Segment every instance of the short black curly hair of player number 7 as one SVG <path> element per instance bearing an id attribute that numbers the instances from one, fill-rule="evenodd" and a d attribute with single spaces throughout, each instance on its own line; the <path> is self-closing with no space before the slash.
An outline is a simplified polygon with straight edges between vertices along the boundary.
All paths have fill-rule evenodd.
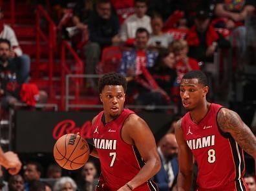
<path id="1" fill-rule="evenodd" d="M 105 74 L 99 79 L 98 88 L 100 93 L 106 85 L 123 86 L 124 92 L 127 90 L 125 77 L 116 72 Z"/>

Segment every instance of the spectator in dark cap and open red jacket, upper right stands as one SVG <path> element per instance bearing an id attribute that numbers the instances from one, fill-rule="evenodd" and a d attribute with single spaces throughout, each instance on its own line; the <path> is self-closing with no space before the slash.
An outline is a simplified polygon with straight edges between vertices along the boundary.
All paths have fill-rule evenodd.
<path id="1" fill-rule="evenodd" d="M 229 47 L 229 42 L 215 31 L 210 23 L 208 11 L 198 10 L 195 25 L 187 33 L 186 41 L 189 45 L 189 57 L 198 61 L 213 61 L 213 54 L 217 47 Z"/>

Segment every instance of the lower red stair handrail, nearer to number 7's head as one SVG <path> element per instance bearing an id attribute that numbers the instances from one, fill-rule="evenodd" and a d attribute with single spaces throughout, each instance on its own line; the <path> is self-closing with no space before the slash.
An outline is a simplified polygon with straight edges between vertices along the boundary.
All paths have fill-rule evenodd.
<path id="1" fill-rule="evenodd" d="M 62 110 L 65 108 L 65 81 L 66 81 L 65 80 L 65 75 L 72 74 L 72 71 L 67 66 L 66 50 L 69 51 L 69 53 L 72 55 L 72 57 L 76 61 L 76 63 L 75 63 L 75 67 L 76 67 L 75 75 L 82 75 L 83 71 L 84 71 L 83 70 L 83 61 L 80 59 L 78 54 L 76 54 L 76 52 L 74 51 L 72 46 L 70 46 L 67 41 L 62 41 L 62 44 L 61 44 L 61 66 L 62 66 L 62 70 L 61 70 L 61 109 Z M 75 100 L 77 102 L 78 102 L 78 99 L 79 99 L 81 83 L 82 83 L 81 79 L 78 79 L 78 80 L 75 79 L 74 80 L 74 85 L 76 87 L 75 88 L 75 95 L 76 95 Z M 69 83 L 67 83 L 67 81 L 66 81 L 66 85 L 69 85 Z M 66 91 L 67 91 L 67 89 L 68 88 L 66 86 Z M 67 94 L 66 94 L 66 96 L 67 96 Z"/>

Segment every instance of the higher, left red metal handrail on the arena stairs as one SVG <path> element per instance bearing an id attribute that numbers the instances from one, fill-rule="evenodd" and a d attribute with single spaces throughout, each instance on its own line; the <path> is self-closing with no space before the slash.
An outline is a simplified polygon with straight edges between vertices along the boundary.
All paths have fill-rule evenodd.
<path id="1" fill-rule="evenodd" d="M 48 22 L 48 35 L 41 30 L 41 16 Z M 36 63 L 39 65 L 41 59 L 41 39 L 48 45 L 48 77 L 49 77 L 49 94 L 52 97 L 53 90 L 53 63 L 54 63 L 54 49 L 56 48 L 56 25 L 50 18 L 50 15 L 44 10 L 43 6 L 38 5 L 36 9 Z M 36 76 L 39 76 L 39 67 L 36 68 Z"/>

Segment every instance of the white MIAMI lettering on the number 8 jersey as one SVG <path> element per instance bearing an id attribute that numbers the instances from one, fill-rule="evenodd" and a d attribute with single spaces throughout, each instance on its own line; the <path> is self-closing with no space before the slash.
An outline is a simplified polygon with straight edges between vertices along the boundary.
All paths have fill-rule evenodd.
<path id="1" fill-rule="evenodd" d="M 215 136 L 200 137 L 198 139 L 187 140 L 187 145 L 191 150 L 215 145 Z"/>

